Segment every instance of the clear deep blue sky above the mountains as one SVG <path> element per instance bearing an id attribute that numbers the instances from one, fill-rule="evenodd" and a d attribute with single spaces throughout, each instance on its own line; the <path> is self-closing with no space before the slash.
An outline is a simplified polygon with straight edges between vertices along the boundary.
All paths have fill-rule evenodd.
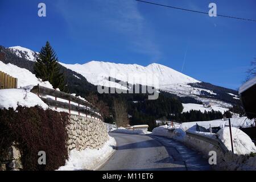
<path id="1" fill-rule="evenodd" d="M 256 1 L 147 0 L 256 19 Z M 46 3 L 39 18 L 38 3 Z M 0 45 L 40 51 L 47 40 L 63 63 L 159 63 L 237 89 L 256 57 L 256 22 L 189 13 L 134 0 L 0 1 Z M 184 64 L 184 65 L 183 65 Z"/>

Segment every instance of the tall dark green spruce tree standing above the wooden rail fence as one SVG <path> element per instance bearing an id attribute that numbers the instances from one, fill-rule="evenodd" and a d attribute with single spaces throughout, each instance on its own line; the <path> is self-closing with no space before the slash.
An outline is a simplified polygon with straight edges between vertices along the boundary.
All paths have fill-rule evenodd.
<path id="1" fill-rule="evenodd" d="M 61 91 L 65 91 L 64 74 L 60 72 L 56 53 L 48 41 L 46 46 L 42 47 L 36 59 L 34 70 L 36 77 L 41 78 L 43 81 L 49 81 L 55 89 L 59 88 Z"/>

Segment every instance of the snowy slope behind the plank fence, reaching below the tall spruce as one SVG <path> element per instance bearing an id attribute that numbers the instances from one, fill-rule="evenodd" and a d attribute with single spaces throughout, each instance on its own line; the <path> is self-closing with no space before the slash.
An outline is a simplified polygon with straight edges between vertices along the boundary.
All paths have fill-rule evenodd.
<path id="1" fill-rule="evenodd" d="M 5 64 L 0 61 L 0 68 L 2 72 L 7 73 L 8 75 L 18 78 L 18 88 L 27 86 L 27 85 L 38 85 L 45 86 L 47 88 L 52 88 L 52 85 L 48 81 L 42 81 L 39 78 L 24 68 L 19 68 L 13 64 Z"/>

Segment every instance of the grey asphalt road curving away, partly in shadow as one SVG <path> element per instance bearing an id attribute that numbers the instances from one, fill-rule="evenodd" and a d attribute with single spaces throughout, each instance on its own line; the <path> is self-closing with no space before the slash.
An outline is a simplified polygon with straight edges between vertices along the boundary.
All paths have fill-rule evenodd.
<path id="1" fill-rule="evenodd" d="M 100 170 L 210 170 L 208 159 L 182 143 L 154 135 L 109 133 L 117 151 Z"/>

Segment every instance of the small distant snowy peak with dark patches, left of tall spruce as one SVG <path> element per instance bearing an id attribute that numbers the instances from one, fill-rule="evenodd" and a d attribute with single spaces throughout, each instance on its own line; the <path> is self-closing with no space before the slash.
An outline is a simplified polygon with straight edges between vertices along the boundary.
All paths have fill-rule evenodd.
<path id="1" fill-rule="evenodd" d="M 9 49 L 11 50 L 11 52 L 15 53 L 16 56 L 22 57 L 29 61 L 35 61 L 36 57 L 38 56 L 38 52 L 34 52 L 25 47 L 14 46 L 14 47 L 9 47 Z"/>

